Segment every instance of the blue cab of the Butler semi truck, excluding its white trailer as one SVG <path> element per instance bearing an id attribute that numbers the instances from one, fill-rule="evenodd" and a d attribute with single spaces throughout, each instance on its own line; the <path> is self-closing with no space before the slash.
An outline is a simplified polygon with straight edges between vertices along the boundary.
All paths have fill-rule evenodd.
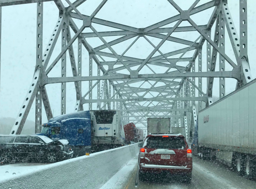
<path id="1" fill-rule="evenodd" d="M 91 152 L 92 126 L 90 111 L 81 111 L 51 118 L 42 124 L 42 131 L 37 135 L 44 135 L 52 140 L 67 139 L 75 156 Z"/>

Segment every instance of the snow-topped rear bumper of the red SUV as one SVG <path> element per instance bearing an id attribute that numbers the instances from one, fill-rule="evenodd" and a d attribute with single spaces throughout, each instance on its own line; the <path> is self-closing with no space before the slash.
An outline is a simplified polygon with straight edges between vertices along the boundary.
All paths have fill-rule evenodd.
<path id="1" fill-rule="evenodd" d="M 170 172 L 176 173 L 191 173 L 192 167 L 179 167 L 179 166 L 166 166 L 166 165 L 152 165 L 152 164 L 141 164 L 139 165 L 140 172 Z"/>

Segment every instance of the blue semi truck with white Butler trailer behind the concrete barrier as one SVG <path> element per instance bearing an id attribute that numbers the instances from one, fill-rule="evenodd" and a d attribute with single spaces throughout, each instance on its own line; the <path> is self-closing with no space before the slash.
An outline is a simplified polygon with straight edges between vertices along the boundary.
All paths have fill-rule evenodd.
<path id="1" fill-rule="evenodd" d="M 44 135 L 69 141 L 74 156 L 124 145 L 125 133 L 119 110 L 88 110 L 64 114 L 42 124 Z"/>

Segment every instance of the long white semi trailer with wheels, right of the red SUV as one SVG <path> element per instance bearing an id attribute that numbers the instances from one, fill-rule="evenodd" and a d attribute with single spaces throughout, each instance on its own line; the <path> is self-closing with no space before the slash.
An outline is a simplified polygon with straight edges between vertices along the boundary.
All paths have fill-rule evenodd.
<path id="1" fill-rule="evenodd" d="M 193 154 L 216 158 L 239 175 L 256 175 L 256 79 L 201 110 Z M 198 127 L 198 129 L 197 129 Z"/>

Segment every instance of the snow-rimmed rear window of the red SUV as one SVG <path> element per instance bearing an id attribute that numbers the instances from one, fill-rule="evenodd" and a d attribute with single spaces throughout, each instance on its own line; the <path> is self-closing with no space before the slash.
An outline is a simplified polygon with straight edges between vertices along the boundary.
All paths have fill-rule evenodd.
<path id="1" fill-rule="evenodd" d="M 146 148 L 178 149 L 185 148 L 186 144 L 181 137 L 149 137 Z"/>

